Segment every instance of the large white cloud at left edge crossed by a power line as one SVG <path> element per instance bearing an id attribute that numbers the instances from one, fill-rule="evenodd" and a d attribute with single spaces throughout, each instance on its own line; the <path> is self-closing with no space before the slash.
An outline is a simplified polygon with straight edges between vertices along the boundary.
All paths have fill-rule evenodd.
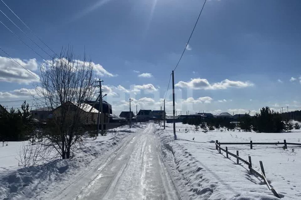
<path id="1" fill-rule="evenodd" d="M 33 72 L 38 68 L 38 63 L 35 58 L 29 60 L 21 60 L 19 58 L 14 59 L 35 76 L 39 77 Z M 24 68 L 18 65 L 13 59 L 0 56 L 0 81 L 20 84 L 29 84 L 38 81 L 37 78 Z"/>

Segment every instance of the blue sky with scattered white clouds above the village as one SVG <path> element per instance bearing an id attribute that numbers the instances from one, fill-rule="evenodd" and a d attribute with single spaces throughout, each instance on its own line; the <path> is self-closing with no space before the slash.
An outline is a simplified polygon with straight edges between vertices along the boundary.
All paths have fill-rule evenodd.
<path id="1" fill-rule="evenodd" d="M 116 114 L 128 108 L 129 97 L 138 109 L 160 109 L 171 70 L 203 5 L 199 0 L 4 2 L 55 52 L 68 45 L 78 55 L 85 49 Z M 178 112 L 254 113 L 263 106 L 300 110 L 300 8 L 298 0 L 208 0 L 175 71 Z M 0 9 L 26 30 L 2 2 Z M 2 14 L 0 21 L 49 58 Z M 3 50 L 39 75 L 42 58 L 2 24 L 0 38 Z M 0 104 L 31 99 L 34 78 L 3 57 Z M 171 91 L 166 99 L 168 113 L 170 98 Z"/>

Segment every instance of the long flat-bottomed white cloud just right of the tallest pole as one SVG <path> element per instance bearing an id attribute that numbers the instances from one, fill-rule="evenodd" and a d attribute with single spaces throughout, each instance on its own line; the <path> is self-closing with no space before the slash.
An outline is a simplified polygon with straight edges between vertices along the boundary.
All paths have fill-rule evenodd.
<path id="1" fill-rule="evenodd" d="M 219 83 L 210 84 L 207 79 L 204 78 L 194 78 L 189 82 L 179 81 L 175 86 L 180 88 L 190 88 L 190 89 L 204 89 L 204 90 L 216 90 L 216 89 L 227 89 L 227 88 L 246 88 L 254 86 L 253 83 L 248 81 L 231 81 L 225 79 Z"/>

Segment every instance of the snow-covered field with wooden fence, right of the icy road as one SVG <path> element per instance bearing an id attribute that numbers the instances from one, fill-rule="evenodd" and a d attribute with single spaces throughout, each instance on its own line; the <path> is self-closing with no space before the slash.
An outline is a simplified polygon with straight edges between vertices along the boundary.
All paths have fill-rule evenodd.
<path id="1" fill-rule="evenodd" d="M 157 134 L 171 150 L 177 164 L 178 179 L 186 181 L 182 187 L 190 192 L 192 199 L 277 199 L 267 186 L 248 173 L 248 166 L 236 165 L 236 159 L 226 159 L 225 153 L 215 150 L 214 141 L 219 142 L 287 142 L 300 143 L 301 132 L 253 133 L 231 131 L 195 132 L 194 126 L 176 123 L 178 140 L 173 140 L 172 124 L 166 130 L 158 128 Z M 185 128 L 189 130 L 185 133 Z M 194 138 L 194 141 L 193 141 Z M 190 140 L 190 141 L 187 141 Z M 226 145 L 224 145 L 225 147 Z M 301 146 L 288 145 L 227 145 L 230 152 L 239 150 L 240 157 L 252 158 L 253 168 L 260 171 L 259 160 L 263 162 L 268 181 L 283 199 L 301 199 Z M 223 145 L 222 145 L 223 147 Z M 294 149 L 294 153 L 292 152 Z M 181 182 L 178 182 L 181 184 Z"/>

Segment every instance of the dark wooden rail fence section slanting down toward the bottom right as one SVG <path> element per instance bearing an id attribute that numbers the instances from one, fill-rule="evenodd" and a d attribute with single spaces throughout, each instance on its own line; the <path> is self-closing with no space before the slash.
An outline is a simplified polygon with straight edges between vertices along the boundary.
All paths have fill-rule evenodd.
<path id="1" fill-rule="evenodd" d="M 236 151 L 236 155 L 234 153 L 231 153 L 228 151 L 228 147 L 226 147 L 225 149 L 224 148 L 221 148 L 220 145 L 222 143 L 218 143 L 218 141 L 216 140 L 215 142 L 215 147 L 216 147 L 216 150 L 219 151 L 220 154 L 221 151 L 225 152 L 226 153 L 226 158 L 229 158 L 229 155 L 230 156 L 233 156 L 234 158 L 236 158 L 236 163 L 239 164 L 239 161 L 242 161 L 243 163 L 245 163 L 246 165 L 248 165 L 248 168 L 249 168 L 249 171 L 250 171 L 250 174 L 256 174 L 258 177 L 260 177 L 264 183 L 266 183 L 267 187 L 273 192 L 273 194 L 280 198 L 280 196 L 278 195 L 278 193 L 275 191 L 275 189 L 273 187 L 271 187 L 271 185 L 267 182 L 267 178 L 266 178 L 266 174 L 265 174 L 265 171 L 264 171 L 264 168 L 263 168 L 263 164 L 262 164 L 262 161 L 259 161 L 259 164 L 260 164 L 260 168 L 261 168 L 261 173 L 259 173 L 258 171 L 256 171 L 254 168 L 252 168 L 252 160 L 251 160 L 251 156 L 248 156 L 248 161 L 244 160 L 243 158 L 239 157 L 239 152 L 238 150 Z M 232 144 L 232 143 L 230 143 Z M 250 144 L 250 143 L 247 143 L 247 144 Z"/>

